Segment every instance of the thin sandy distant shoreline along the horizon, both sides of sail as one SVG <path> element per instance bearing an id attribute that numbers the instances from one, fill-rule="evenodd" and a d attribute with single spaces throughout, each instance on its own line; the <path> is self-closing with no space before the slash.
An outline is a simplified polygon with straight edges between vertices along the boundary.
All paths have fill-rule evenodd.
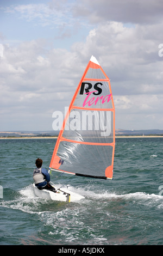
<path id="1" fill-rule="evenodd" d="M 0 137 L 0 139 L 57 139 L 58 136 L 52 136 L 52 137 Z M 137 136 L 115 136 L 115 138 L 163 138 L 163 136 L 160 135 L 137 135 Z"/>

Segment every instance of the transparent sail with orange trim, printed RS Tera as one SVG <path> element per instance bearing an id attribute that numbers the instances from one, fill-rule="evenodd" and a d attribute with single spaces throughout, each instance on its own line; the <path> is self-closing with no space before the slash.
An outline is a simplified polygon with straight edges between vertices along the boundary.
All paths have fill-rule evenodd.
<path id="1" fill-rule="evenodd" d="M 112 179 L 115 108 L 108 76 L 91 57 L 60 130 L 49 169 Z"/>

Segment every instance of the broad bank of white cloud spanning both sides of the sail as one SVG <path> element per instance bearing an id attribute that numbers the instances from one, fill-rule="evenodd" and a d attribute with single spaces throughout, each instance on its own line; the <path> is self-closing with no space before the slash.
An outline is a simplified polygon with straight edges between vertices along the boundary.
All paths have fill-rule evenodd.
<path id="1" fill-rule="evenodd" d="M 159 94 L 163 74 L 159 40 L 149 38 L 151 31 L 151 26 L 146 26 L 143 34 L 140 25 L 127 28 L 120 22 L 107 22 L 90 31 L 85 42 L 73 44 L 71 52 L 55 48 L 45 51 L 45 42 L 38 40 L 23 42 L 17 48 L 3 46 L 3 103 L 12 110 L 17 106 L 26 107 L 28 112 L 33 109 L 37 118 L 48 113 L 50 119 L 49 109 L 52 115 L 69 105 L 91 54 L 96 53 L 111 80 L 117 115 L 147 116 L 148 111 L 154 115 L 162 109 Z M 119 122 L 117 125 L 122 127 Z M 137 129 L 138 126 L 140 123 Z"/>

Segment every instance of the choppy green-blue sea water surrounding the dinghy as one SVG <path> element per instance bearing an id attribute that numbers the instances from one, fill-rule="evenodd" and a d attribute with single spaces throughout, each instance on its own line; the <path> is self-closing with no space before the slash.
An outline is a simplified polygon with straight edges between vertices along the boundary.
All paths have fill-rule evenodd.
<path id="1" fill-rule="evenodd" d="M 33 169 L 49 167 L 54 138 L 0 139 L 1 245 L 162 245 L 163 138 L 116 138 L 114 179 L 53 172 L 77 203 L 37 198 Z"/>

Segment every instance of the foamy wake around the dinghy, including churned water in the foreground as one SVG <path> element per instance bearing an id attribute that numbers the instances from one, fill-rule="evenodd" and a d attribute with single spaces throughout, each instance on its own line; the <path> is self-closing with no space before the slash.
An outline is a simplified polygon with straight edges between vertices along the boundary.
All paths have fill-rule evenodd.
<path id="1" fill-rule="evenodd" d="M 84 240 L 85 244 L 97 245 L 107 243 L 104 234 L 106 230 L 112 232 L 114 222 L 121 223 L 118 225 L 122 227 L 125 225 L 126 229 L 130 229 L 131 223 L 135 220 L 131 216 L 127 218 L 125 215 L 122 216 L 124 204 L 131 203 L 135 207 L 146 205 L 148 209 L 151 207 L 160 209 L 163 205 L 162 196 L 156 194 L 144 192 L 117 194 L 99 188 L 95 190 L 95 187 L 95 185 L 82 188 L 72 186 L 71 191 L 82 194 L 85 199 L 78 203 L 66 203 L 36 197 L 33 186 L 30 184 L 18 191 L 15 199 L 2 202 L 1 205 L 36 215 L 45 229 L 44 235 L 40 233 L 41 230 L 38 232 L 46 239 L 49 236 L 48 240 L 52 237 L 56 244 L 61 240 L 64 240 L 65 244 L 73 244 L 77 241 L 78 244 L 82 244 Z M 107 217 L 104 218 L 104 215 Z M 146 225 L 145 221 L 139 222 Z M 104 234 L 101 230 L 105 230 Z M 121 241 L 116 240 L 115 243 L 121 244 Z"/>

